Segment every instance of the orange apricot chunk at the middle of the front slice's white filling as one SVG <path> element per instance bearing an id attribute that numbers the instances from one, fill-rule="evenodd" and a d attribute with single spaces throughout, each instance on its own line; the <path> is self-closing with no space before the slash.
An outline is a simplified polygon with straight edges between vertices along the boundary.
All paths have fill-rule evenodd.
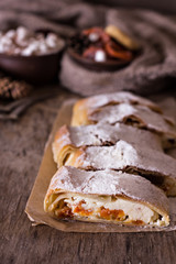
<path id="1" fill-rule="evenodd" d="M 107 220 L 124 220 L 124 211 L 123 210 L 110 210 L 108 208 L 100 208 L 100 217 Z"/>

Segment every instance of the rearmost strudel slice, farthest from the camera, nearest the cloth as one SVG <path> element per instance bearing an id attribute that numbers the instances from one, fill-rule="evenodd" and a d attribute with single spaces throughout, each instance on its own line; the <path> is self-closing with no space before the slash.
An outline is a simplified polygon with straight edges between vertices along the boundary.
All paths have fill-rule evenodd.
<path id="1" fill-rule="evenodd" d="M 161 108 L 139 96 L 131 92 L 119 91 L 113 94 L 99 95 L 78 100 L 74 106 L 72 125 L 82 125 L 91 122 L 89 114 L 107 106 L 116 106 L 120 103 L 140 105 L 152 109 L 155 112 L 162 112 Z"/>

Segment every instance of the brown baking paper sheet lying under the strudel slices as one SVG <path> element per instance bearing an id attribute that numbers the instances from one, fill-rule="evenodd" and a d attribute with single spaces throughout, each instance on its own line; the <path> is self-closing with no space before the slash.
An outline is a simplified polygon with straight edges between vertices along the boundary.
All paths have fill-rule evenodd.
<path id="1" fill-rule="evenodd" d="M 166 228 L 148 228 L 148 227 L 124 227 L 118 224 L 106 224 L 106 223 L 89 223 L 79 221 L 62 221 L 55 220 L 43 209 L 43 201 L 50 185 L 52 176 L 56 172 L 56 164 L 53 161 L 52 154 L 52 142 L 56 130 L 63 124 L 70 123 L 72 109 L 75 100 L 66 101 L 61 108 L 53 130 L 50 134 L 48 141 L 45 145 L 43 161 L 33 186 L 31 196 L 28 200 L 25 212 L 33 222 L 33 224 L 47 224 L 62 231 L 67 232 L 154 232 L 154 231 L 173 231 L 176 230 L 176 198 L 169 198 L 170 207 L 170 224 Z M 170 103 L 172 102 L 172 103 Z M 175 103 L 175 105 L 173 105 Z M 166 105 L 166 106 L 165 106 Z M 167 99 L 166 103 L 162 106 L 172 106 L 173 111 L 176 109 L 176 102 L 173 99 Z M 169 112 L 170 110 L 167 109 Z M 175 113 L 175 112 L 174 112 Z M 169 166 L 169 165 L 168 165 Z"/>

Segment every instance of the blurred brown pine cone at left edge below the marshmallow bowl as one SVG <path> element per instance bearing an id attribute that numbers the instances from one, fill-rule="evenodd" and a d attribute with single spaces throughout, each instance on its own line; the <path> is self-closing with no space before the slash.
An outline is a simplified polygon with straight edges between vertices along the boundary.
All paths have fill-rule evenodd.
<path id="1" fill-rule="evenodd" d="M 23 80 L 13 80 L 10 77 L 0 78 L 0 98 L 20 99 L 30 94 L 32 86 Z"/>

